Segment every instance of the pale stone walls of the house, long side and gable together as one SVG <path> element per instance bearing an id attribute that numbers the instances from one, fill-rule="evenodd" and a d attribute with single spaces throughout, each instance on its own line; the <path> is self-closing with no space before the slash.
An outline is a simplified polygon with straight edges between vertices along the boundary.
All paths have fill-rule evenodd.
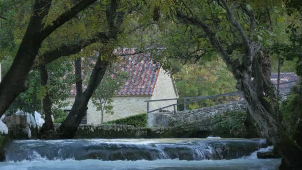
<path id="1" fill-rule="evenodd" d="M 178 98 L 177 90 L 175 90 L 174 85 L 174 80 L 171 78 L 171 76 L 161 68 L 152 96 L 115 96 L 112 103 L 112 105 L 114 106 L 114 114 L 110 115 L 105 113 L 104 122 L 134 116 L 140 113 L 146 113 L 147 103 L 144 102 L 145 100 Z M 68 97 L 67 101 L 71 104 L 63 109 L 70 110 L 74 100 L 75 96 Z M 176 103 L 176 100 L 151 102 L 149 105 L 149 110 L 157 109 L 174 103 Z M 173 110 L 173 107 L 168 109 Z M 96 107 L 90 100 L 87 110 L 87 124 L 97 125 L 100 123 L 101 112 L 96 110 Z"/>

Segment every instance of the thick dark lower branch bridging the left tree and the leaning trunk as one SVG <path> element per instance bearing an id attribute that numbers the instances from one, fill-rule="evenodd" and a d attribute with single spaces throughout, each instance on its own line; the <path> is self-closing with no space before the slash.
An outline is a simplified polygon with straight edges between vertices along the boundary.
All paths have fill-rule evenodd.
<path id="1" fill-rule="evenodd" d="M 45 53 L 41 54 L 42 63 L 48 64 L 62 56 L 69 56 L 72 54 L 79 53 L 83 48 L 87 47 L 90 44 L 95 42 L 108 42 L 109 37 L 104 32 L 98 32 L 92 36 L 90 39 L 83 39 L 77 43 L 65 45 L 62 44 L 58 48 L 46 51 Z"/>

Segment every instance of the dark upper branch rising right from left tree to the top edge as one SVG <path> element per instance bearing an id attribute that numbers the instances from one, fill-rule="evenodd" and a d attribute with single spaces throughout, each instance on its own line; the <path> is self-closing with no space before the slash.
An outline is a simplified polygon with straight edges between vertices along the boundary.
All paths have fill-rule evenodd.
<path id="1" fill-rule="evenodd" d="M 70 10 L 62 13 L 60 16 L 57 17 L 54 21 L 52 21 L 51 24 L 47 25 L 42 31 L 41 31 L 41 37 L 42 39 L 45 39 L 48 35 L 50 35 L 54 30 L 56 30 L 58 27 L 63 25 L 65 22 L 69 21 L 71 18 L 73 18 L 77 13 L 88 7 L 89 5 L 93 4 L 97 0 L 81 0 L 78 2 L 74 7 L 72 7 Z"/>

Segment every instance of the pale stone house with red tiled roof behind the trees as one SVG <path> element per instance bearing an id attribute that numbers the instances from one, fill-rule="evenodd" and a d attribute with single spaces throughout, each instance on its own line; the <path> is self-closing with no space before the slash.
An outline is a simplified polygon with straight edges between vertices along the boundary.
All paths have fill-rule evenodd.
<path id="1" fill-rule="evenodd" d="M 135 49 L 123 49 L 115 51 L 122 59 L 119 64 L 121 71 L 129 74 L 129 79 L 121 87 L 113 98 L 113 115 L 104 113 L 104 122 L 125 118 L 128 116 L 146 113 L 147 104 L 145 100 L 178 98 L 178 93 L 174 78 L 168 74 L 158 62 L 154 62 L 154 56 L 150 53 L 135 54 Z M 134 55 L 125 55 L 134 54 Z M 85 89 L 86 86 L 83 86 Z M 83 89 L 83 90 L 84 90 Z M 71 96 L 67 101 L 70 106 L 63 108 L 68 113 L 75 100 L 76 88 L 71 91 Z M 149 110 L 157 109 L 170 104 L 174 101 L 153 102 L 149 105 Z M 96 107 L 90 100 L 88 103 L 87 115 L 82 120 L 82 124 L 100 124 L 101 112 L 96 111 Z"/>

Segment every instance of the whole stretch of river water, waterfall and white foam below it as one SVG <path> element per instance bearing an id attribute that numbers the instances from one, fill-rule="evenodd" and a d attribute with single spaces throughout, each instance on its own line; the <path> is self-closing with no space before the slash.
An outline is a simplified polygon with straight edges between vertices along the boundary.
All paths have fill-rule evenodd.
<path id="1" fill-rule="evenodd" d="M 0 170 L 277 170 L 263 139 L 15 140 Z"/>

